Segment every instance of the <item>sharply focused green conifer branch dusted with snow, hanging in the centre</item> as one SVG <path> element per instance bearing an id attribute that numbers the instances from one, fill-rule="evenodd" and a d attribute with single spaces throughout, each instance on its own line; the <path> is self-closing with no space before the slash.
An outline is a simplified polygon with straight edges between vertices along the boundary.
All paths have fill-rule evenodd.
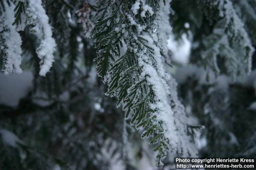
<path id="1" fill-rule="evenodd" d="M 165 3 L 109 1 L 99 10 L 92 32 L 98 49 L 98 74 L 108 84 L 106 94 L 118 97 L 117 106 L 123 102 L 125 117 L 132 113 L 132 125 L 145 128 L 142 138 L 153 136 L 150 143 L 156 144 L 158 164 L 162 164 L 169 146 L 177 147 L 174 113 L 168 100 L 170 75 L 163 68 L 156 45 L 160 37 L 154 30 L 161 26 L 155 23 L 159 23 L 159 6 L 169 5 Z"/>

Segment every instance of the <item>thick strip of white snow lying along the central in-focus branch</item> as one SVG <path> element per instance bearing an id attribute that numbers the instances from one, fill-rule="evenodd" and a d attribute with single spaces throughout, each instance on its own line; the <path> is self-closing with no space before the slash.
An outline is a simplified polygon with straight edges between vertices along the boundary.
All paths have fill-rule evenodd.
<path id="1" fill-rule="evenodd" d="M 170 94 L 169 86 L 166 80 L 170 79 L 170 75 L 166 74 L 164 70 L 164 66 L 161 61 L 160 49 L 154 45 L 153 39 L 148 35 L 142 36 L 144 39 L 148 41 L 147 45 L 154 49 L 154 59 L 156 61 L 156 68 L 152 65 L 152 61 L 147 54 L 149 52 L 144 53 L 143 51 L 138 54 L 139 65 L 142 67 L 141 77 L 144 78 L 147 76 L 148 83 L 152 85 L 152 88 L 155 93 L 155 104 L 151 105 L 152 109 L 156 109 L 156 113 L 154 115 L 157 116 L 158 121 L 162 121 L 164 126 L 164 136 L 170 140 L 170 145 L 175 148 L 177 146 L 177 138 L 176 132 L 174 131 L 174 117 L 173 111 L 168 103 L 168 94 Z M 156 122 L 158 123 L 158 122 Z"/>

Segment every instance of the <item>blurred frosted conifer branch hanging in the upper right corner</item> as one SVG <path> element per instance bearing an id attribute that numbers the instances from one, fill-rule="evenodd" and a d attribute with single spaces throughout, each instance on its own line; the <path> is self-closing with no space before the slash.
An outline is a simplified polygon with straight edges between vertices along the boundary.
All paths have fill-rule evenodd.
<path id="1" fill-rule="evenodd" d="M 214 23 L 212 34 L 203 40 L 205 50 L 202 60 L 206 70 L 218 75 L 227 72 L 233 79 L 251 71 L 254 48 L 230 0 L 198 0 L 200 8 L 210 23 Z M 220 70 L 217 60 L 224 58 L 225 70 Z"/>

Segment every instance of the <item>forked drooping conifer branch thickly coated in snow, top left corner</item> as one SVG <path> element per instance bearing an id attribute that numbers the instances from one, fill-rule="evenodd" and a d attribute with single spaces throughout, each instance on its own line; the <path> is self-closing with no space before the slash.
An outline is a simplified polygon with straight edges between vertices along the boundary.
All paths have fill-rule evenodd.
<path id="1" fill-rule="evenodd" d="M 42 6 L 41 0 L 8 0 L 1 3 L 1 49 L 5 54 L 5 74 L 21 73 L 22 40 L 18 31 L 24 30 L 26 25 L 33 25 L 30 30 L 40 40 L 36 53 L 40 59 L 41 76 L 52 67 L 54 62 L 55 40 L 52 37 L 52 27 Z"/>

